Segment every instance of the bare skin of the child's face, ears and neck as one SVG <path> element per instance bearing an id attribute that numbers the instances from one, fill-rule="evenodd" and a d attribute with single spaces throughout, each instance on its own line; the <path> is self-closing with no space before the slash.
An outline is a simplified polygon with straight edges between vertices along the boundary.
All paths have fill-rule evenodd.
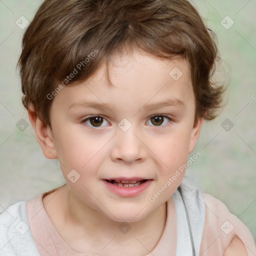
<path id="1" fill-rule="evenodd" d="M 109 67 L 115 87 L 107 85 L 102 65 L 86 81 L 65 86 L 53 97 L 51 128 L 41 122 L 32 104 L 29 106 L 29 119 L 43 154 L 49 159 L 58 157 L 67 183 L 43 197 L 43 204 L 59 235 L 74 250 L 90 255 L 100 252 L 101 256 L 119 255 L 120 251 L 123 256 L 142 256 L 160 239 L 165 202 L 184 172 L 154 202 L 148 198 L 186 163 L 203 119 L 194 122 L 195 98 L 184 59 L 166 61 L 137 50 L 133 56 L 113 55 Z M 174 67 L 183 73 L 178 80 L 169 75 Z M 69 108 L 82 100 L 110 103 L 114 108 Z M 165 100 L 183 104 L 143 108 Z M 164 117 L 156 125 L 153 114 L 171 119 Z M 102 117 L 101 126 L 93 127 L 95 118 L 89 119 L 90 115 Z M 131 124 L 127 131 L 118 127 L 123 118 Z M 67 178 L 72 169 L 80 175 L 74 183 Z M 122 197 L 102 181 L 117 176 L 153 181 L 140 194 Z M 123 221 L 131 227 L 125 235 L 118 229 Z"/>

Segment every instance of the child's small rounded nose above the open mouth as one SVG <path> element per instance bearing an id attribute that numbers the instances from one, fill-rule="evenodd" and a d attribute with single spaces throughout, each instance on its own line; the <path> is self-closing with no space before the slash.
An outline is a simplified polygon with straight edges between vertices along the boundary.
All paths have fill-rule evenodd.
<path id="1" fill-rule="evenodd" d="M 132 126 L 127 131 L 122 131 L 121 129 L 117 131 L 111 148 L 111 158 L 113 161 L 134 163 L 145 160 L 147 147 L 141 136 L 136 133 Z"/>

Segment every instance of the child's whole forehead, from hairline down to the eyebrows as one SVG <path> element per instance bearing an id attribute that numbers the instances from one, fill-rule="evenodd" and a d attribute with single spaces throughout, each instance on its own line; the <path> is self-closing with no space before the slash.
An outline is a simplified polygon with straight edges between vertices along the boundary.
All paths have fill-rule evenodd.
<path id="1" fill-rule="evenodd" d="M 65 86 L 54 97 L 55 104 L 64 109 L 78 106 L 85 101 L 135 110 L 139 106 L 164 99 L 193 105 L 194 97 L 188 63 L 185 59 L 160 59 L 136 51 L 116 54 L 108 64 L 111 85 L 106 77 L 106 65 L 87 80 Z"/>

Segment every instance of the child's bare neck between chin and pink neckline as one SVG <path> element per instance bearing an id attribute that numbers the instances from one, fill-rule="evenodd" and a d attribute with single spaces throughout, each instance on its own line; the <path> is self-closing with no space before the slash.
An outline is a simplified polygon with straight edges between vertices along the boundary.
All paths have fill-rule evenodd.
<path id="1" fill-rule="evenodd" d="M 81 242 L 82 240 L 83 244 L 84 241 L 87 241 L 90 248 L 103 248 L 105 246 L 105 255 L 114 255 L 113 250 L 117 252 L 121 250 L 124 256 L 124 248 L 127 249 L 127 255 L 131 253 L 132 249 L 136 255 L 139 255 L 138 247 L 141 249 L 141 255 L 145 255 L 155 247 L 163 232 L 166 221 L 166 202 L 139 221 L 120 222 L 109 219 L 101 212 L 85 204 L 67 185 L 65 192 L 68 195 L 66 197 L 68 200 L 65 222 L 69 223 L 67 224 L 68 229 L 73 230 L 71 231 L 73 238 L 77 235 L 75 241 Z M 106 246 L 108 243 L 111 246 Z M 75 242 L 73 247 L 78 247 L 78 251 L 83 250 L 88 253 L 89 248 L 79 247 L 79 244 L 79 242 Z"/>

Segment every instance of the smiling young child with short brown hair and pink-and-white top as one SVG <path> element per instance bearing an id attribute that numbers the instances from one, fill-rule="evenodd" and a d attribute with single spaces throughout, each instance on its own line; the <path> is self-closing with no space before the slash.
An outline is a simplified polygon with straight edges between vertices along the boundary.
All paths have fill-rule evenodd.
<path id="1" fill-rule="evenodd" d="M 187 0 L 42 2 L 22 102 L 66 183 L 0 215 L 0 255 L 255 255 L 248 228 L 184 178 L 222 102 L 210 33 Z"/>

